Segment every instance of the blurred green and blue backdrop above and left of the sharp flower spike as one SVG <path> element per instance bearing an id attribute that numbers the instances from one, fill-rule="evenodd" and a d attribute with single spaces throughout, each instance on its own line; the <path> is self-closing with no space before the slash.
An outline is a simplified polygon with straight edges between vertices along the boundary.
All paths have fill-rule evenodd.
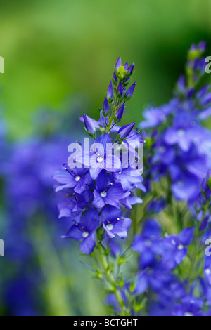
<path id="1" fill-rule="evenodd" d="M 171 98 L 191 44 L 207 41 L 211 55 L 210 14 L 210 0 L 1 1 L 1 315 L 108 314 L 77 244 L 61 242 L 51 172 L 67 141 L 83 134 L 77 117 L 97 119 L 118 56 L 135 62 L 124 122 L 138 124 L 147 105 Z"/>

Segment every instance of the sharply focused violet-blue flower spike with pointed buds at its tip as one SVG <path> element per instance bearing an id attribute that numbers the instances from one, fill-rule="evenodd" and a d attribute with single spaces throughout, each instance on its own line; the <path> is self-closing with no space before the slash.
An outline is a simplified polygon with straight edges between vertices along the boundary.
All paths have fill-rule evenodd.
<path id="1" fill-rule="evenodd" d="M 96 230 L 100 228 L 103 236 L 127 237 L 132 220 L 124 210 L 142 202 L 136 196 L 136 188 L 145 189 L 136 168 L 140 158 L 136 149 L 143 141 L 133 129 L 135 123 L 118 126 L 125 103 L 134 93 L 135 83 L 127 87 L 133 70 L 134 64 L 122 65 L 118 58 L 100 119 L 95 121 L 87 115 L 81 118 L 94 143 L 88 151 L 75 156 L 76 164 L 71 166 L 69 159 L 53 177 L 57 181 L 56 192 L 64 197 L 58 204 L 59 217 L 72 220 L 64 237 L 80 241 L 80 249 L 86 254 L 94 251 Z"/>

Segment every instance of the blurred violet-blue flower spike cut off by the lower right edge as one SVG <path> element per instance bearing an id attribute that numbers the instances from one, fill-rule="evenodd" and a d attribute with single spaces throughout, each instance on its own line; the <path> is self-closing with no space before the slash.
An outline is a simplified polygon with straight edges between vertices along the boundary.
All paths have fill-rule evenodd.
<path id="1" fill-rule="evenodd" d="M 177 301 L 175 315 L 210 316 L 211 315 L 211 258 L 210 247 L 210 171 L 200 187 L 198 199 L 194 205 L 193 223 L 195 227 L 193 242 L 188 249 L 188 276 L 184 274 L 183 283 L 186 295 Z M 188 260 L 187 260 L 188 261 Z"/>

